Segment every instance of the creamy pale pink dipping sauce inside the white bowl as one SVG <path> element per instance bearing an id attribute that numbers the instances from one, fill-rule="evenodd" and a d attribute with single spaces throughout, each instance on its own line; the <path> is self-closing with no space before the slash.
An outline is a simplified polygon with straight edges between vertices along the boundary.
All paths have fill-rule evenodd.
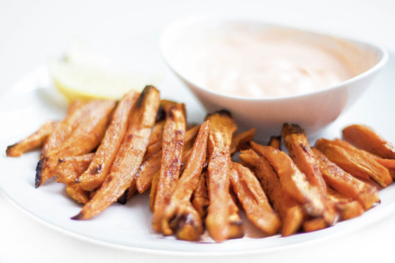
<path id="1" fill-rule="evenodd" d="M 221 94 L 292 96 L 324 89 L 356 75 L 339 54 L 319 41 L 303 40 L 301 33 L 232 26 L 183 36 L 184 44 L 177 48 L 180 73 Z"/>

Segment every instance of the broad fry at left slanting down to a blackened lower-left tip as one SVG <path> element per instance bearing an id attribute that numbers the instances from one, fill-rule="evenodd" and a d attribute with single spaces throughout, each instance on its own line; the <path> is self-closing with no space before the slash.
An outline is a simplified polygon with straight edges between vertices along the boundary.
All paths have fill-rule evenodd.
<path id="1" fill-rule="evenodd" d="M 94 105 L 94 107 L 90 107 Z M 102 140 L 115 106 L 114 100 L 95 100 L 86 104 L 91 110 L 62 145 L 47 153 L 37 164 L 36 188 L 54 175 L 58 158 L 78 156 L 92 151 Z M 83 107 L 85 110 L 86 107 Z M 62 125 L 62 123 L 60 124 Z M 56 132 L 56 131 L 55 131 Z"/>

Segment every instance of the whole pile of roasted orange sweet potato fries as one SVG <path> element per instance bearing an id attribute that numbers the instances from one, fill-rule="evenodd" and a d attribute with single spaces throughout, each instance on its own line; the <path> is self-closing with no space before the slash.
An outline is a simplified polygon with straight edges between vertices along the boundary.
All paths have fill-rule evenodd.
<path id="1" fill-rule="evenodd" d="M 345 128 L 345 140 L 318 139 L 314 148 L 297 125 L 284 124 L 268 146 L 252 141 L 254 129 L 236 130 L 227 111 L 189 126 L 184 104 L 160 100 L 147 86 L 118 102 L 74 101 L 62 121 L 45 123 L 6 154 L 42 147 L 36 188 L 51 177 L 65 183 L 84 204 L 72 219 L 151 189 L 156 231 L 199 240 L 206 229 L 216 242 L 243 236 L 240 208 L 268 235 L 332 226 L 378 203 L 378 189 L 395 178 L 393 145 L 366 126 Z"/>

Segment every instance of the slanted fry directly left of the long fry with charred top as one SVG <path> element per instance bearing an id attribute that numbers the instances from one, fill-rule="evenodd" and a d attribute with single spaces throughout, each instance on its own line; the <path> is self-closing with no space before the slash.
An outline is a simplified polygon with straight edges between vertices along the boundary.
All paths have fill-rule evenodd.
<path id="1" fill-rule="evenodd" d="M 80 188 L 92 191 L 103 184 L 126 133 L 127 119 L 138 96 L 138 93 L 131 91 L 119 101 L 111 124 L 96 150 L 94 159 L 86 171 L 76 179 Z"/>

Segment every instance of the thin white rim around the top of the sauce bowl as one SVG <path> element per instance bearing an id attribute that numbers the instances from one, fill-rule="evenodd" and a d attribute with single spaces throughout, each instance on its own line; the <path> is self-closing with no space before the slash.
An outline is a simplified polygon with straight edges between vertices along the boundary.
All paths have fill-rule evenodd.
<path id="1" fill-rule="evenodd" d="M 288 29 L 288 30 L 295 30 L 295 31 L 301 31 L 305 33 L 311 33 L 311 34 L 317 34 L 317 35 L 322 35 L 322 36 L 327 36 L 327 37 L 333 37 L 337 38 L 340 40 L 344 40 L 348 43 L 352 43 L 357 46 L 365 46 L 370 49 L 373 49 L 377 55 L 378 55 L 378 62 L 367 69 L 366 71 L 350 78 L 345 81 L 342 81 L 338 84 L 329 86 L 324 89 L 319 89 L 316 91 L 311 91 L 308 93 L 302 93 L 302 94 L 297 94 L 297 95 L 289 95 L 289 96 L 282 96 L 282 97 L 269 97 L 269 98 L 250 98 L 250 97 L 241 97 L 241 96 L 236 96 L 236 95 L 229 95 L 229 94 L 224 94 L 221 92 L 213 91 L 210 90 L 207 87 L 202 87 L 200 85 L 197 85 L 194 81 L 191 81 L 187 77 L 183 76 L 180 74 L 174 66 L 171 65 L 170 60 L 165 52 L 165 43 L 166 40 L 168 39 L 169 33 L 171 31 L 180 29 L 180 28 L 185 28 L 188 25 L 191 25 L 193 23 L 201 23 L 205 21 L 219 21 L 219 22 L 238 22 L 238 23 L 245 23 L 245 24 L 255 24 L 255 25 L 261 25 L 261 26 L 269 26 L 269 27 L 276 27 L 276 28 L 283 28 L 283 29 Z M 243 101 L 276 101 L 276 100 L 288 100 L 288 99 L 296 99 L 296 98 L 302 98 L 302 97 L 308 97 L 312 95 L 318 95 L 321 93 L 326 93 L 327 91 L 330 90 L 337 90 L 346 87 L 349 84 L 352 84 L 356 81 L 359 81 L 363 78 L 368 77 L 369 75 L 372 75 L 374 73 L 377 73 L 379 70 L 382 69 L 383 66 L 386 65 L 389 55 L 388 55 L 388 50 L 381 44 L 372 42 L 372 41 L 367 41 L 367 40 L 361 40 L 356 37 L 348 37 L 348 36 L 343 36 L 341 34 L 336 34 L 336 33 L 327 33 L 323 30 L 311 30 L 311 29 L 305 29 L 303 27 L 294 27 L 294 26 L 289 26 L 289 25 L 284 25 L 284 24 L 279 24 L 279 23 L 273 23 L 273 22 L 266 22 L 263 20 L 258 20 L 258 19 L 251 19 L 251 18 L 242 18 L 242 17 L 236 17 L 236 16 L 224 16 L 224 15 L 218 15 L 218 16 L 208 16 L 208 15 L 190 15 L 190 16 L 184 16 L 181 18 L 178 18 L 176 20 L 173 20 L 169 24 L 167 24 L 162 33 L 160 34 L 160 39 L 159 39 L 159 47 L 160 47 L 160 52 L 163 57 L 163 60 L 165 61 L 166 65 L 183 81 L 192 84 L 194 88 L 201 90 L 205 93 L 209 93 L 211 95 L 217 96 L 217 97 L 223 97 L 226 99 L 237 99 L 237 100 L 243 100 Z M 188 85 L 187 85 L 188 86 Z M 190 87 L 188 87 L 190 88 Z"/>

